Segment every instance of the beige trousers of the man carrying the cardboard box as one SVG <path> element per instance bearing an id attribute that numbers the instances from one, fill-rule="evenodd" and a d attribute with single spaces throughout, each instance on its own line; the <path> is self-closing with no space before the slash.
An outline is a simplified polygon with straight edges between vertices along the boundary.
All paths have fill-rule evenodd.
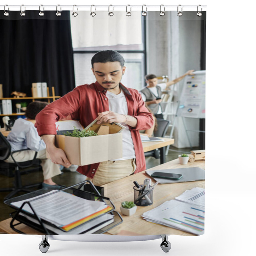
<path id="1" fill-rule="evenodd" d="M 101 186 L 131 175 L 136 170 L 135 158 L 120 161 L 101 162 L 91 180 L 95 186 Z"/>

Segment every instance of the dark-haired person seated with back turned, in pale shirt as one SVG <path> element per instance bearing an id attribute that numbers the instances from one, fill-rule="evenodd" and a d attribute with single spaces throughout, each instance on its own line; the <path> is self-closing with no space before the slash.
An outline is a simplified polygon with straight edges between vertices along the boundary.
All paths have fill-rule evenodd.
<path id="1" fill-rule="evenodd" d="M 39 137 L 35 124 L 36 115 L 47 105 L 47 102 L 34 101 L 31 102 L 25 112 L 27 119 L 18 118 L 15 120 L 12 127 L 12 131 L 9 133 L 7 140 L 11 144 L 12 151 L 26 149 L 13 155 L 13 158 L 17 162 L 25 162 L 32 160 L 37 151 L 36 158 L 41 160 L 41 166 L 43 169 L 43 187 L 47 185 L 55 185 L 52 181 L 52 177 L 61 174 L 60 167 L 57 164 L 53 164 L 51 159 L 46 158 L 46 146 L 44 141 Z M 5 162 L 13 163 L 12 157 L 8 157 Z"/>

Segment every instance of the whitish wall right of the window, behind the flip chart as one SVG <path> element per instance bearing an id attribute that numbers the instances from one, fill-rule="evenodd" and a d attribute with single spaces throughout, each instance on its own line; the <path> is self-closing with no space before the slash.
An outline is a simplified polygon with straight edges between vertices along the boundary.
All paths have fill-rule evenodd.
<path id="1" fill-rule="evenodd" d="M 147 56 L 148 71 L 156 76 L 168 75 L 173 80 L 189 69 L 200 70 L 201 22 L 195 12 L 168 12 L 163 17 L 159 12 L 147 15 Z M 183 81 L 177 84 L 174 101 L 179 99 Z M 185 118 L 189 129 L 199 130 L 199 119 Z M 184 125 L 176 119 L 173 133 L 177 148 L 189 147 Z M 199 145 L 199 133 L 189 132 L 193 147 Z"/>

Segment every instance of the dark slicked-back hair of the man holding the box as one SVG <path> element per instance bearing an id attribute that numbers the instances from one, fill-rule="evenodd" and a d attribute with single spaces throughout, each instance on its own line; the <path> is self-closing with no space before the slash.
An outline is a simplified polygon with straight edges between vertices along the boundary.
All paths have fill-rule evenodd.
<path id="1" fill-rule="evenodd" d="M 106 63 L 106 62 L 114 62 L 114 61 L 119 61 L 121 67 L 124 67 L 124 58 L 123 56 L 116 51 L 112 50 L 105 50 L 105 51 L 100 51 L 97 52 L 93 57 L 92 57 L 92 68 L 93 64 L 96 62 L 100 63 Z"/>

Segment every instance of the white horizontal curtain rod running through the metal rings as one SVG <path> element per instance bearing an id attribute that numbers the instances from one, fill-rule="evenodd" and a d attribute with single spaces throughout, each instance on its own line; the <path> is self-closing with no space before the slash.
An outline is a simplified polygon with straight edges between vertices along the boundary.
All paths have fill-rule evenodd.
<path id="1" fill-rule="evenodd" d="M 39 10 L 40 9 L 40 10 Z M 1 11 L 178 11 L 178 12 L 204 12 L 206 5 L 0 5 Z"/>

